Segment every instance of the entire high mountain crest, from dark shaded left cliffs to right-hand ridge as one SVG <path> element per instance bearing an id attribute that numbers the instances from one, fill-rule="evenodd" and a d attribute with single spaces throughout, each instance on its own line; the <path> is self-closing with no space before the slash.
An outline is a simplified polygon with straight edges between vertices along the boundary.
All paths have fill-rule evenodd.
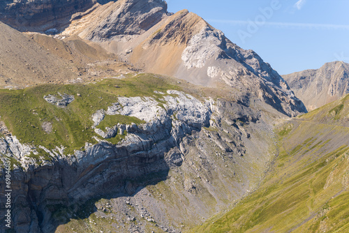
<path id="1" fill-rule="evenodd" d="M 145 72 L 238 89 L 232 98 L 246 106 L 257 100 L 288 116 L 306 112 L 258 54 L 235 45 L 195 13 L 168 13 L 163 0 L 23 0 L 2 6 L 0 20 L 22 31 L 49 29 L 61 38 L 79 36 Z"/>

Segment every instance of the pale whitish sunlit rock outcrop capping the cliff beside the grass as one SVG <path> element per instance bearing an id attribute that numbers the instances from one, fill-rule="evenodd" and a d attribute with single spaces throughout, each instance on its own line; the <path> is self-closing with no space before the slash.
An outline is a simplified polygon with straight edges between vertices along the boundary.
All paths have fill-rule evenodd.
<path id="1" fill-rule="evenodd" d="M 177 123 L 179 128 L 183 127 L 184 124 L 198 129 L 209 125 L 209 118 L 212 113 L 210 103 L 213 104 L 213 100 L 207 100 L 207 103 L 204 105 L 198 99 L 181 91 L 169 90 L 168 94 L 163 93 L 163 100 L 165 101 L 163 107 L 151 97 L 119 97 L 119 102 L 108 107 L 106 112 L 98 110 L 93 114 L 94 126 L 98 126 L 98 123 L 104 119 L 105 114 L 121 114 L 146 121 L 141 128 L 149 134 L 156 133 L 159 123 L 167 125 L 169 121 L 175 121 L 172 123 Z M 136 132 L 137 128 L 135 126 L 135 124 L 126 126 L 126 131 Z M 185 126 L 185 128 L 188 126 Z M 119 128 L 120 130 L 125 130 L 121 126 Z M 172 128 L 172 131 L 177 132 L 180 130 Z M 98 130 L 98 132 L 100 131 Z"/>

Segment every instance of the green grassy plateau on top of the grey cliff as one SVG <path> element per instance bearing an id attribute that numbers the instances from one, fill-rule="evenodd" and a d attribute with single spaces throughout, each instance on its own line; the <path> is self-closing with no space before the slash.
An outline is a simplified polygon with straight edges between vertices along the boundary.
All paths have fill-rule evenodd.
<path id="1" fill-rule="evenodd" d="M 107 110 L 108 106 L 117 102 L 119 96 L 160 98 L 161 95 L 154 91 L 166 92 L 168 89 L 181 90 L 181 87 L 173 80 L 150 74 L 129 75 L 124 79 L 106 79 L 90 84 L 44 84 L 19 90 L 0 89 L 0 121 L 22 143 L 42 145 L 47 149 L 65 146 L 66 152 L 71 153 L 74 149 L 82 149 L 85 142 L 96 143 L 93 137 L 98 135 L 91 128 L 91 115 L 96 110 Z M 61 98 L 58 93 L 73 95 L 75 100 L 61 108 L 47 103 L 43 98 L 48 94 Z M 132 122 L 142 123 L 135 117 L 116 115 L 105 117 L 98 127 L 105 130 L 106 126 Z M 52 132 L 45 130 L 45 123 L 51 124 Z M 110 141 L 116 143 L 122 136 L 117 135 L 118 138 Z"/>

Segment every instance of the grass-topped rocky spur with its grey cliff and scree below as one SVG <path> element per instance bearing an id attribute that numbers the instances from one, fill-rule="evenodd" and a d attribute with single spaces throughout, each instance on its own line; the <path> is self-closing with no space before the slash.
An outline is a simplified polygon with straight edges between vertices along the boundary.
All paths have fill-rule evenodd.
<path id="1" fill-rule="evenodd" d="M 83 232 L 91 218 L 99 219 L 87 224 L 94 232 L 117 226 L 179 232 L 258 186 L 272 156 L 268 114 L 229 100 L 228 93 L 214 100 L 214 89 L 205 96 L 165 80 L 140 74 L 1 91 L 1 161 L 5 166 L 10 158 L 13 166 L 17 232 L 72 226 Z M 8 104 L 13 101 L 19 102 Z M 133 208 L 118 205 L 121 197 Z M 113 203 L 108 216 L 103 198 Z"/>

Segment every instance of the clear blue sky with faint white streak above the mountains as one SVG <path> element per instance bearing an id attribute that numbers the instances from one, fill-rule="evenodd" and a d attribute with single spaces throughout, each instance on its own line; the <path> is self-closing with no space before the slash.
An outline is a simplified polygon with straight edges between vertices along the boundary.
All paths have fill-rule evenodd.
<path id="1" fill-rule="evenodd" d="M 281 75 L 349 63 L 349 0 L 167 0 L 188 9 L 233 43 L 254 50 Z"/>

